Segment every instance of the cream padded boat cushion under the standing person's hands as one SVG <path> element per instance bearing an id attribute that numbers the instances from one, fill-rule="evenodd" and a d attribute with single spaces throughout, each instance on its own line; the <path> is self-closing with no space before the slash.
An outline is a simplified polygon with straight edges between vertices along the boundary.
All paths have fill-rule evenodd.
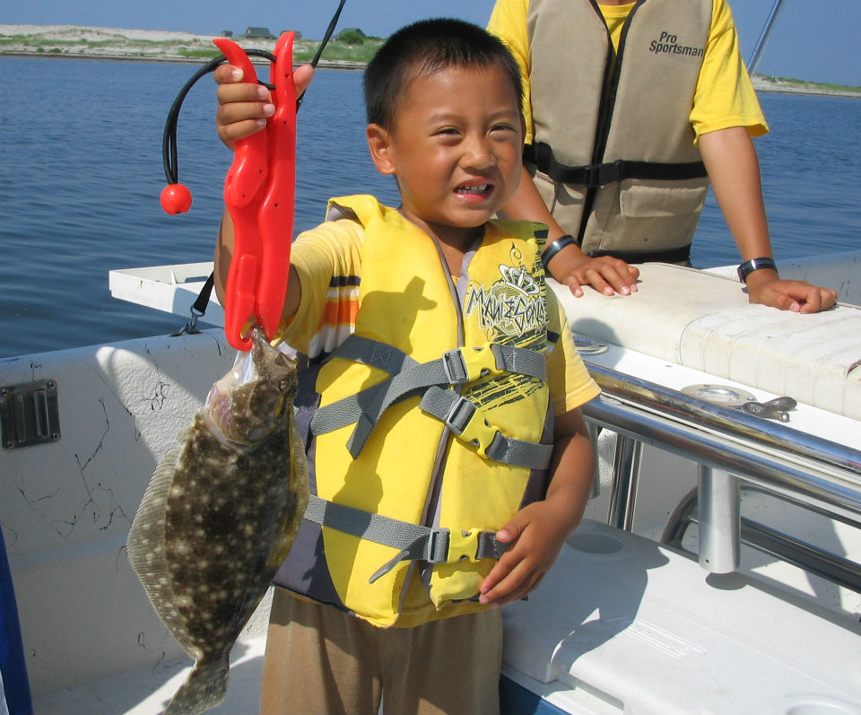
<path id="1" fill-rule="evenodd" d="M 668 264 L 638 290 L 574 298 L 550 281 L 575 333 L 861 419 L 861 308 L 799 314 L 747 300 L 737 280 Z"/>

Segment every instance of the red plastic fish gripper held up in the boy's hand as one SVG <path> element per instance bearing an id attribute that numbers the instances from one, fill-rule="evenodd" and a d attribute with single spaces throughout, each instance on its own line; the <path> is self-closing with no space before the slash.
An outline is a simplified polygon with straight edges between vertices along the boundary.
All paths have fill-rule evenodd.
<path id="1" fill-rule="evenodd" d="M 245 51 L 226 38 L 213 39 L 245 82 L 257 82 Z M 293 33 L 275 45 L 269 81 L 275 112 L 264 129 L 240 139 L 224 181 L 224 203 L 233 220 L 234 248 L 224 297 L 224 333 L 237 350 L 250 350 L 243 328 L 257 324 L 272 339 L 281 321 L 290 275 L 296 186 L 296 87 Z M 250 331 L 249 331 L 250 332 Z"/>

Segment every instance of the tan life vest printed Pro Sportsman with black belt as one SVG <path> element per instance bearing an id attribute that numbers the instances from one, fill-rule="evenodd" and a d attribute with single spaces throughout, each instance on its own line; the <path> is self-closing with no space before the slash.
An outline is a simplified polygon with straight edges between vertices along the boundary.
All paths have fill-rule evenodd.
<path id="1" fill-rule="evenodd" d="M 613 64 L 594 0 L 531 0 L 526 164 L 586 253 L 686 260 L 709 187 L 688 117 L 711 10 L 712 0 L 639 0 Z"/>

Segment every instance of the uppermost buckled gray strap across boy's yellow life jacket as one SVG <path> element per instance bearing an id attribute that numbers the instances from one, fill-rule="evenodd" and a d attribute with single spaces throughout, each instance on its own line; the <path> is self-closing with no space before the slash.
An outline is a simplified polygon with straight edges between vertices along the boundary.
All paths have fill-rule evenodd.
<path id="1" fill-rule="evenodd" d="M 375 362 L 373 359 L 373 353 L 379 345 L 383 344 L 361 338 L 361 343 L 353 342 L 350 345 L 349 356 L 347 353 L 342 354 L 340 349 L 334 354 L 386 370 L 381 362 Z M 417 363 L 409 360 L 412 364 L 402 362 L 401 364 L 409 366 L 390 373 L 394 374 L 391 379 L 317 410 L 311 420 L 311 432 L 324 434 L 355 423 L 356 426 L 347 441 L 347 449 L 353 458 L 357 458 L 380 416 L 390 406 L 432 385 L 463 385 L 484 375 L 502 372 L 518 373 L 544 381 L 547 379 L 544 353 L 509 344 L 488 343 L 480 348 L 457 348 L 430 362 Z"/>

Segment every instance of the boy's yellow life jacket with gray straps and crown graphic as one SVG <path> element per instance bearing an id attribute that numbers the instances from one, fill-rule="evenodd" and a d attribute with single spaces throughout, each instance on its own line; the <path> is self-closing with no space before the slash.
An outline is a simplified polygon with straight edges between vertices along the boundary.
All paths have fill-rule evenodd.
<path id="1" fill-rule="evenodd" d="M 333 202 L 364 227 L 359 309 L 300 377 L 312 498 L 275 582 L 380 626 L 414 578 L 429 598 L 411 624 L 476 610 L 493 535 L 546 486 L 546 228 L 488 222 L 458 280 L 395 209 Z"/>

